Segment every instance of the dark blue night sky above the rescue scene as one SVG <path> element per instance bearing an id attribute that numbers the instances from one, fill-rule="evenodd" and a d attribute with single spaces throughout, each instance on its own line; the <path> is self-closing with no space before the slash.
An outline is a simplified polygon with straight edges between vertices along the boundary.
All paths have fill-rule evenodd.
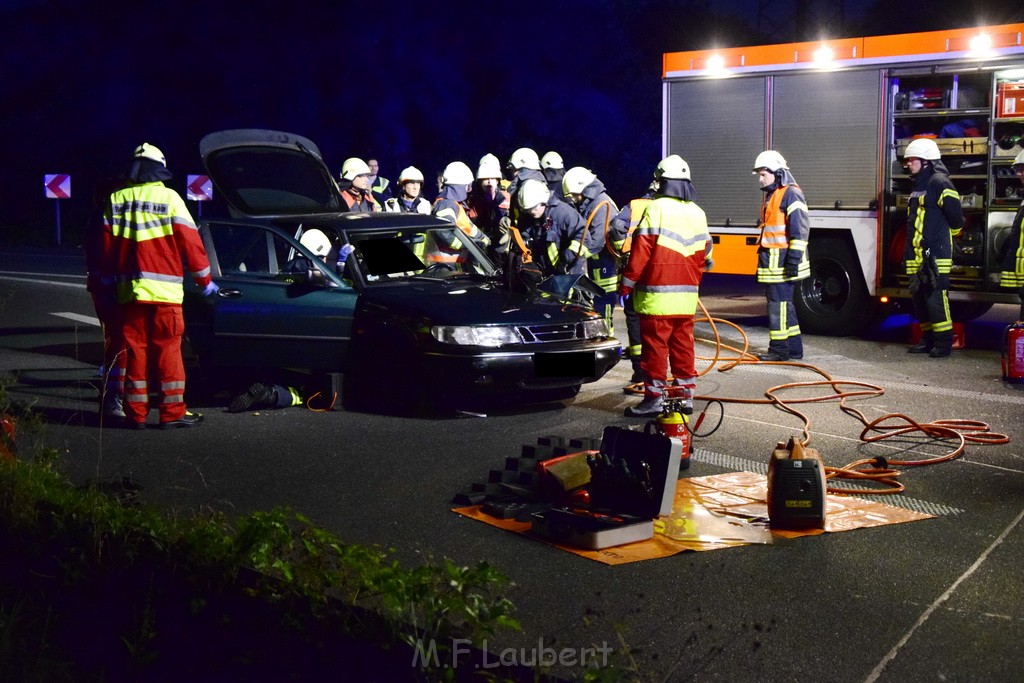
<path id="1" fill-rule="evenodd" d="M 375 156 L 392 179 L 554 150 L 623 203 L 659 158 L 663 52 L 1014 22 L 1012 0 L 0 0 L 0 244 L 52 243 L 44 174 L 72 175 L 72 247 L 136 144 L 165 152 L 183 195 L 200 138 L 225 128 L 305 135 L 334 172 Z"/>

